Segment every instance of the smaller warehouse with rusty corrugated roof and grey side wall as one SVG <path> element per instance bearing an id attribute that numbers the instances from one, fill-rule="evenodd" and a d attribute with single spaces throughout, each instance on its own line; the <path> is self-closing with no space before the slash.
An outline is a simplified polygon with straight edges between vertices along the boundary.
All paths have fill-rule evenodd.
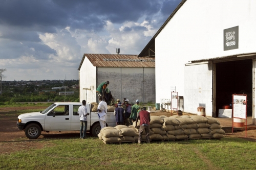
<path id="1" fill-rule="evenodd" d="M 113 98 L 155 102 L 155 58 L 138 55 L 84 54 L 79 70 L 80 102 L 98 102 L 96 89 L 109 81 Z"/>

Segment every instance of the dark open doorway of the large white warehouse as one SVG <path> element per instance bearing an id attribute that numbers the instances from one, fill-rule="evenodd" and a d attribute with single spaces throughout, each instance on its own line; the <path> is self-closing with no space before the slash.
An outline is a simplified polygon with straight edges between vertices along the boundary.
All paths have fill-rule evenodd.
<path id="1" fill-rule="evenodd" d="M 252 60 L 216 63 L 216 110 L 232 103 L 232 94 L 247 94 L 247 116 L 252 116 Z"/>

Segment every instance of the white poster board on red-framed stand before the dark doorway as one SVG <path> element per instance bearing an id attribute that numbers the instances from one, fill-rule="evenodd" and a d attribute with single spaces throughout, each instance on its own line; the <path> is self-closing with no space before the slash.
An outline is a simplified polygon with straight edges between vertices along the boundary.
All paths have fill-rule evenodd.
<path id="1" fill-rule="evenodd" d="M 246 95 L 233 94 L 233 117 L 246 118 Z"/>

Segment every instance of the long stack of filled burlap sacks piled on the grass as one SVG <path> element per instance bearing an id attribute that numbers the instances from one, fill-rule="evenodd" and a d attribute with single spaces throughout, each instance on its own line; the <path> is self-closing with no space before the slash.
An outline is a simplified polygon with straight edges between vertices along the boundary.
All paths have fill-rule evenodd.
<path id="1" fill-rule="evenodd" d="M 99 138 L 105 142 L 138 141 L 135 123 L 130 126 L 118 125 L 116 127 L 105 127 L 99 133 Z M 223 138 L 226 134 L 221 129 L 220 122 L 214 117 L 204 116 L 151 116 L 150 138 L 155 140 L 176 140 L 193 138 Z M 142 140 L 146 140 L 145 131 Z"/>

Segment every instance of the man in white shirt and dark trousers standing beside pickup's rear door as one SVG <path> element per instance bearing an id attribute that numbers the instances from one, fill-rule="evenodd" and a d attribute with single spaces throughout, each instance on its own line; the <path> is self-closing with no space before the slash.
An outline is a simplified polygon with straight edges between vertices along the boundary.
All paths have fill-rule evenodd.
<path id="1" fill-rule="evenodd" d="M 80 138 L 84 139 L 86 138 L 86 130 L 87 130 L 87 116 L 90 113 L 87 113 L 87 108 L 86 108 L 86 101 L 82 101 L 82 106 L 78 108 L 77 113 L 80 115 Z"/>

